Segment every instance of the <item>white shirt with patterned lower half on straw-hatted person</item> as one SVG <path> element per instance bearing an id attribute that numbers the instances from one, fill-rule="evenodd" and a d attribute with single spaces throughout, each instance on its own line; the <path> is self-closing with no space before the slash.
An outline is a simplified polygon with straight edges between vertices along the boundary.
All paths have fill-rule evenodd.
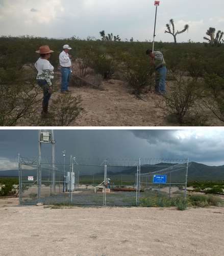
<path id="1" fill-rule="evenodd" d="M 51 63 L 47 59 L 39 58 L 34 66 L 38 71 L 37 79 L 46 80 L 47 84 L 51 86 L 51 79 L 54 78 L 54 67 Z"/>

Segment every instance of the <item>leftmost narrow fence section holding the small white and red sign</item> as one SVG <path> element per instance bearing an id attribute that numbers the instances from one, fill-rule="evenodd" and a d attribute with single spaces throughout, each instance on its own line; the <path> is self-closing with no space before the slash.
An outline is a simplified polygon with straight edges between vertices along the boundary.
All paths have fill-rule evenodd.
<path id="1" fill-rule="evenodd" d="M 21 204 L 38 201 L 38 168 L 36 164 L 20 164 L 19 200 Z"/>

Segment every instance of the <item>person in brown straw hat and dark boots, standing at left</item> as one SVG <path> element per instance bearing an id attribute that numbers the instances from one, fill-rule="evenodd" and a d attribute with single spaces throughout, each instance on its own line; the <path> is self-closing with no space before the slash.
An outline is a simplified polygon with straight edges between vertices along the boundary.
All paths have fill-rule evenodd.
<path id="1" fill-rule="evenodd" d="M 48 102 L 52 95 L 52 79 L 54 78 L 54 67 L 48 61 L 51 53 L 54 52 L 49 49 L 49 46 L 41 46 L 36 53 L 40 54 L 40 58 L 35 63 L 35 68 L 38 71 L 37 83 L 43 89 L 43 110 L 42 117 L 48 117 Z"/>

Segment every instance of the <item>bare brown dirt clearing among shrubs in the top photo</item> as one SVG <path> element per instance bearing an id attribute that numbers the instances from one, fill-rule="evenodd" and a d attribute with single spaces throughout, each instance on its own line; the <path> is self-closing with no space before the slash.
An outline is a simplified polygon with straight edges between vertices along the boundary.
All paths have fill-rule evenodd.
<path id="1" fill-rule="evenodd" d="M 59 81 L 57 88 L 59 88 Z M 70 86 L 71 94 L 81 95 L 85 112 L 73 126 L 167 126 L 162 96 L 148 92 L 144 100 L 130 93 L 127 84 L 120 80 L 103 81 L 99 91 L 86 86 Z M 57 96 L 58 93 L 55 93 Z M 71 125 L 71 126 L 72 126 Z"/>

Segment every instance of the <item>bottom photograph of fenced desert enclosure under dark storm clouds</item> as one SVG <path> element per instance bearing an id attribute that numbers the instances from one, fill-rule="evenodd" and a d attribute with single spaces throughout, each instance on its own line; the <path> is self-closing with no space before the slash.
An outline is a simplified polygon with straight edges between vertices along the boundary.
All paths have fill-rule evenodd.
<path id="1" fill-rule="evenodd" d="M 223 135 L 0 130 L 0 254 L 221 255 Z"/>

